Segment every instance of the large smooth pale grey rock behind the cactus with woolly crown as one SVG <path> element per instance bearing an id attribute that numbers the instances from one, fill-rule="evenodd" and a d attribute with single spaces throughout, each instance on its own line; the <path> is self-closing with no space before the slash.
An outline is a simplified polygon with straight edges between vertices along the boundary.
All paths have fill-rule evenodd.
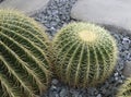
<path id="1" fill-rule="evenodd" d="M 71 16 L 131 29 L 131 0 L 79 0 Z"/>

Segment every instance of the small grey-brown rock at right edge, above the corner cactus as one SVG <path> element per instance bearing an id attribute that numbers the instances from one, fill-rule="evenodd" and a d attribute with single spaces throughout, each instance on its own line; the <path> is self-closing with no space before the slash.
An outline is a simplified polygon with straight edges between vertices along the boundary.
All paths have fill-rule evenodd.
<path id="1" fill-rule="evenodd" d="M 127 61 L 126 66 L 123 69 L 123 75 L 127 77 L 131 76 L 131 61 Z"/>

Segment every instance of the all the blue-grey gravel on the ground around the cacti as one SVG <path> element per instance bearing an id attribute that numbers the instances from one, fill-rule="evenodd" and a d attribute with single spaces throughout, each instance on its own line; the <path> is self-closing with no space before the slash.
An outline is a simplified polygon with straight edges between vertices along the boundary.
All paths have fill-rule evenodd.
<path id="1" fill-rule="evenodd" d="M 50 0 L 46 10 L 32 15 L 46 26 L 47 33 L 53 37 L 58 29 L 74 21 L 70 16 L 72 5 L 76 0 Z M 97 87 L 72 88 L 53 77 L 50 86 L 41 97 L 115 97 L 117 88 L 126 80 L 122 74 L 124 63 L 131 61 L 131 35 L 129 31 L 102 25 L 116 38 L 119 48 L 118 64 L 112 75 Z"/>

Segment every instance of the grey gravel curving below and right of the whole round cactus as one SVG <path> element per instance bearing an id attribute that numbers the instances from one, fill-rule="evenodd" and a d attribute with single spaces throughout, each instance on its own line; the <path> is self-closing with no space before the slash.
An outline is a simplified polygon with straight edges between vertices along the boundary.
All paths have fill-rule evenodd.
<path id="1" fill-rule="evenodd" d="M 98 87 L 72 88 L 57 77 L 52 78 L 50 87 L 41 97 L 115 97 L 118 87 L 122 85 L 126 76 L 123 69 L 131 61 L 131 34 L 123 28 L 103 25 L 116 38 L 119 49 L 119 59 L 112 75 Z"/>

